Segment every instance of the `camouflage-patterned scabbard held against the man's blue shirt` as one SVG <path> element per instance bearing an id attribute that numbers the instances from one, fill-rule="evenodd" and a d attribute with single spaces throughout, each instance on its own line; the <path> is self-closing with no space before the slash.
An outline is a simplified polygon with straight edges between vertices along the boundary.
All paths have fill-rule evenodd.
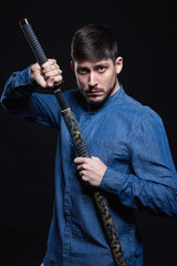
<path id="1" fill-rule="evenodd" d="M 62 116 L 65 121 L 70 135 L 72 137 L 75 151 L 80 157 L 91 157 L 86 142 L 81 133 L 77 120 L 71 109 L 62 111 Z M 104 232 L 113 253 L 116 266 L 126 266 L 125 257 L 118 238 L 118 234 L 111 215 L 107 198 L 100 191 L 93 192 L 93 197 L 102 219 Z"/>

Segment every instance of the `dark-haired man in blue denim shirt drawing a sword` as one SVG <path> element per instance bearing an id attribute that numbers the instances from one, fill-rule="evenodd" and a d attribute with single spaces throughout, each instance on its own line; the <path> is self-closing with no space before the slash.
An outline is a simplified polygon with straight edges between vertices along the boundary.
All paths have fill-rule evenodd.
<path id="1" fill-rule="evenodd" d="M 177 175 L 160 117 L 129 98 L 118 82 L 123 68 L 114 35 L 90 24 L 76 31 L 71 48 L 76 90 L 64 92 L 92 157 L 76 157 L 54 95 L 38 86 L 62 82 L 55 60 L 15 72 L 2 104 L 12 113 L 59 132 L 55 202 L 44 266 L 113 266 L 111 248 L 92 198 L 106 194 L 128 266 L 143 265 L 135 209 L 177 215 Z"/>

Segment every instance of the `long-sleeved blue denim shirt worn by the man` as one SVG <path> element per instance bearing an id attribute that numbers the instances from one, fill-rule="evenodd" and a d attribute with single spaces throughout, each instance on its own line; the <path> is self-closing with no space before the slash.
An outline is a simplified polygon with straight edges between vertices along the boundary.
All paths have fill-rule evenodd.
<path id="1" fill-rule="evenodd" d="M 108 200 L 127 265 L 142 266 L 135 211 L 177 215 L 177 174 L 162 119 L 129 98 L 123 86 L 96 111 L 79 90 L 65 91 L 64 96 L 91 155 L 107 165 L 100 190 Z M 113 266 L 92 190 L 76 172 L 76 155 L 55 96 L 37 93 L 27 69 L 8 80 L 2 103 L 12 113 L 59 132 L 55 201 L 44 266 Z"/>

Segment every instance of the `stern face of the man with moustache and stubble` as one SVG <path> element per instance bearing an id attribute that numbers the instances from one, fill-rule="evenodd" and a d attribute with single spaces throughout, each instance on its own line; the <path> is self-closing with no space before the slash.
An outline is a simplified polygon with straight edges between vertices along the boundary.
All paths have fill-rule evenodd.
<path id="1" fill-rule="evenodd" d="M 102 104 L 118 89 L 117 74 L 123 68 L 123 59 L 114 64 L 111 59 L 98 62 L 81 60 L 72 63 L 79 89 L 86 101 L 93 105 Z"/>

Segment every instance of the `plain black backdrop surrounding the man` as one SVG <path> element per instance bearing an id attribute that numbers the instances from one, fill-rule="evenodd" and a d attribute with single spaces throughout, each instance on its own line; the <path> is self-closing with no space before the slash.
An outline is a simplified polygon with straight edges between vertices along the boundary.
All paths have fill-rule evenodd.
<path id="1" fill-rule="evenodd" d="M 1 3 L 2 4 L 2 3 Z M 0 9 L 0 92 L 8 76 L 34 63 L 19 27 L 28 18 L 49 58 L 66 81 L 74 31 L 91 22 L 110 25 L 117 38 L 125 91 L 164 120 L 175 164 L 176 6 L 170 1 L 3 1 Z M 0 266 L 39 265 L 45 253 L 54 198 L 56 132 L 22 121 L 0 105 Z M 177 219 L 137 214 L 145 266 L 176 266 Z"/>

